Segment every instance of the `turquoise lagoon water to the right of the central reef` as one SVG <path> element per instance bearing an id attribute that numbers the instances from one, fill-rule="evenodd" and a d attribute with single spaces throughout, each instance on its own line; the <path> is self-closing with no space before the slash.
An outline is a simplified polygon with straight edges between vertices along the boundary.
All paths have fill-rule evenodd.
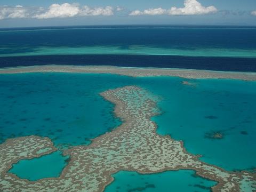
<path id="1" fill-rule="evenodd" d="M 163 114 L 153 118 L 159 134 L 182 140 L 190 153 L 227 170 L 256 166 L 256 82 L 207 79 L 188 86 L 177 78 L 157 81 L 163 85 L 154 88 L 163 96 Z M 214 133 L 222 139 L 211 138 Z"/>

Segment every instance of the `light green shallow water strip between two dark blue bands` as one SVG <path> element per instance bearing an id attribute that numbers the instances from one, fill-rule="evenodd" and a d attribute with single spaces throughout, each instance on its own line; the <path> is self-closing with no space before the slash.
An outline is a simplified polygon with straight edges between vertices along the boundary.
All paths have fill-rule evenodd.
<path id="1" fill-rule="evenodd" d="M 26 49 L 28 47 L 24 47 Z M 0 50 L 8 50 L 1 47 Z M 11 49 L 11 48 L 10 48 Z M 177 55 L 190 57 L 234 57 L 234 58 L 256 58 L 256 50 L 223 49 L 193 47 L 193 49 L 173 49 L 154 46 L 79 46 L 79 47 L 48 47 L 38 46 L 26 52 L 2 53 L 0 57 L 18 57 L 31 55 L 77 55 L 77 54 L 131 54 L 131 55 Z"/>

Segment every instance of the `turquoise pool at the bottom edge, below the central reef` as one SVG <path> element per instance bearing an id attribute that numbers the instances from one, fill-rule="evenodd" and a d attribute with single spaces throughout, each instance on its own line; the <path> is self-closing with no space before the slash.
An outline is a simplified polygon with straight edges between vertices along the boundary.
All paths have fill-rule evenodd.
<path id="1" fill-rule="evenodd" d="M 105 192 L 165 192 L 165 191 L 211 191 L 216 182 L 197 177 L 194 171 L 167 171 L 157 174 L 139 174 L 120 171 L 113 175 L 115 181 Z"/>

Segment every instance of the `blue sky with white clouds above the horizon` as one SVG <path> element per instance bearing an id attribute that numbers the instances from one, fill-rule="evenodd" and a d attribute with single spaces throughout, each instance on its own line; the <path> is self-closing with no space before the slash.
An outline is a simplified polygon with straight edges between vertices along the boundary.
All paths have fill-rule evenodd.
<path id="1" fill-rule="evenodd" d="M 256 0 L 0 1 L 0 28 L 72 25 L 256 26 Z"/>

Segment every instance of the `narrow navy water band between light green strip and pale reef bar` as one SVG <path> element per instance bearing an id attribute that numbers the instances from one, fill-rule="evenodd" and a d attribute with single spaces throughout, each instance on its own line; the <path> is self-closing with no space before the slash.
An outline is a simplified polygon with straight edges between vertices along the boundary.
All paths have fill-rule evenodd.
<path id="1" fill-rule="evenodd" d="M 183 57 L 169 55 L 38 55 L 0 58 L 1 67 L 34 65 L 107 65 L 221 71 L 256 71 L 254 58 Z"/>

